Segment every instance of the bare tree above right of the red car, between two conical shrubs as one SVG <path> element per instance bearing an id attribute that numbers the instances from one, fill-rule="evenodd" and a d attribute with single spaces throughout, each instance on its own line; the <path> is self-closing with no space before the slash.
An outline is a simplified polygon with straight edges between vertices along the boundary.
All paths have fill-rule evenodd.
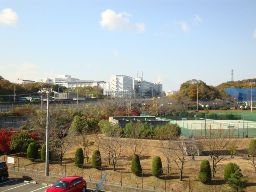
<path id="1" fill-rule="evenodd" d="M 116 171 L 116 162 L 118 162 L 120 154 L 125 148 L 120 138 L 122 129 L 118 124 L 112 123 L 108 124 L 107 129 L 108 133 L 105 136 L 100 135 L 99 145 L 108 157 L 109 162 L 112 162 L 113 170 Z"/>

